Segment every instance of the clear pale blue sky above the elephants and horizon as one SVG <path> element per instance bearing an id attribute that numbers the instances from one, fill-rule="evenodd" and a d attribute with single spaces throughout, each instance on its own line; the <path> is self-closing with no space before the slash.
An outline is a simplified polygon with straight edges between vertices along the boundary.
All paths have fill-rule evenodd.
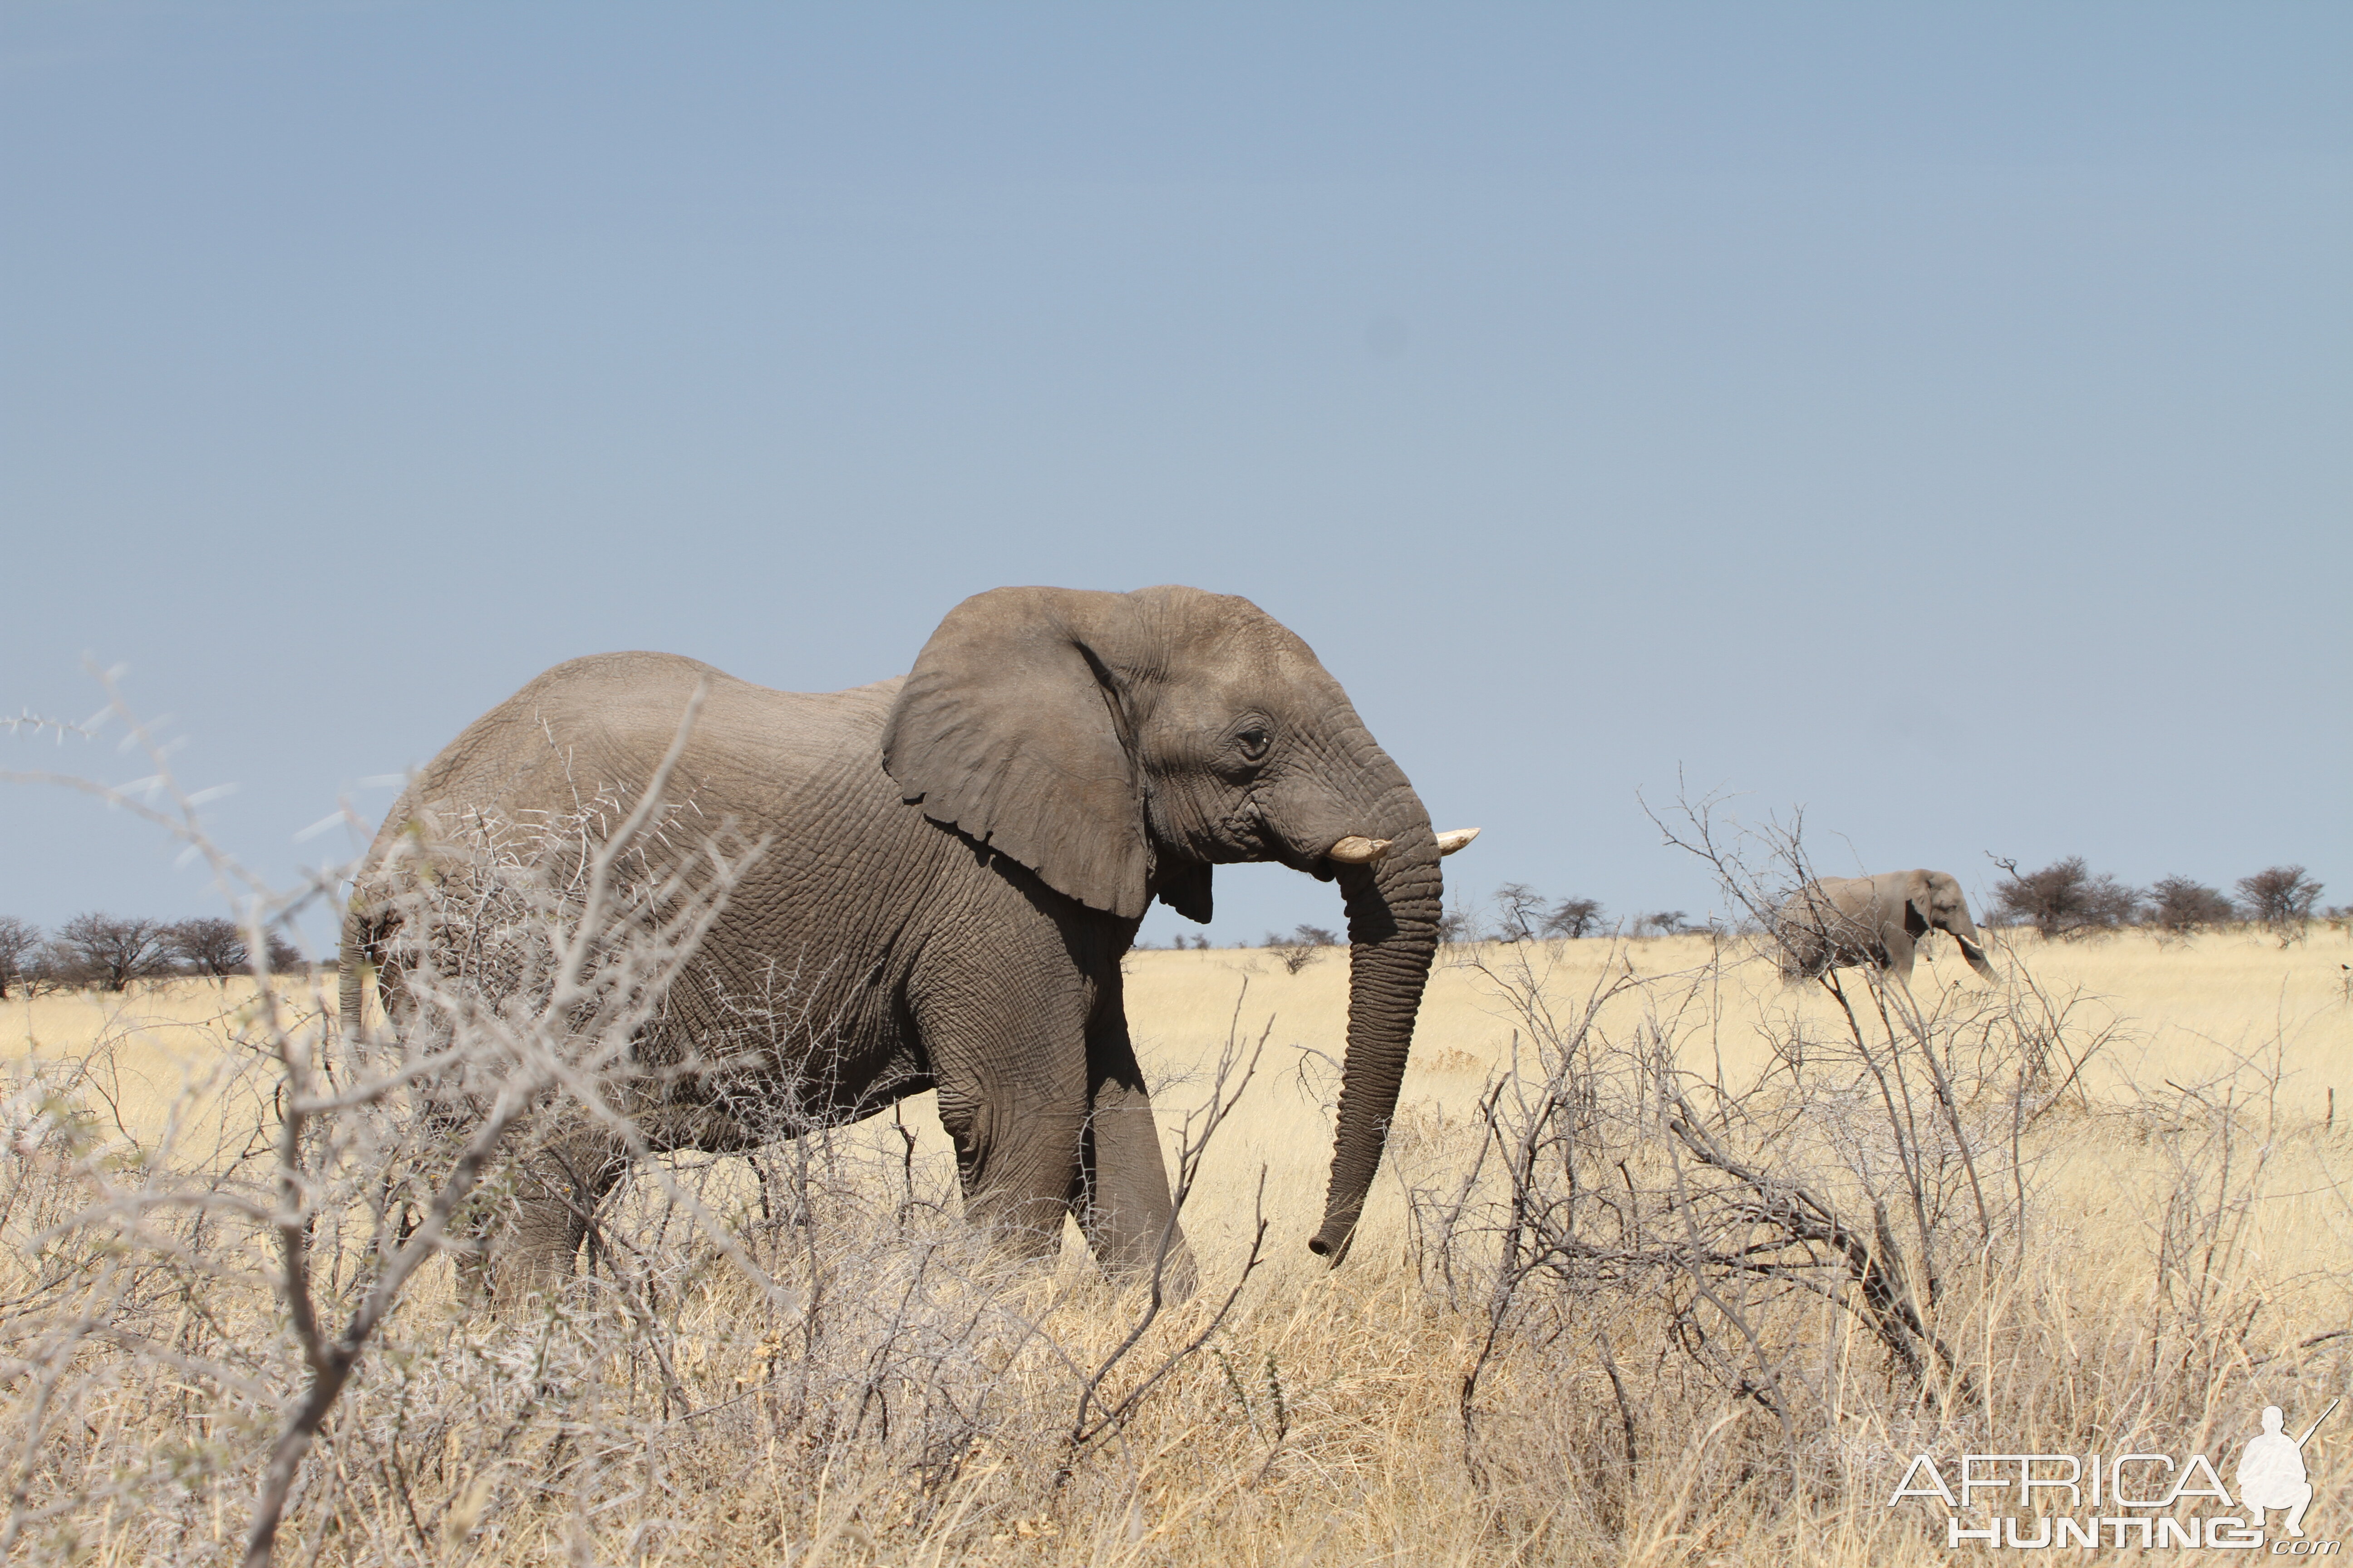
<path id="1" fill-rule="evenodd" d="M 1680 769 L 2353 900 L 2346 5 L 16 2 L 0 146 L 0 710 L 129 665 L 273 872 L 574 654 L 1179 581 L 1473 893 L 1706 910 Z M 214 903 L 0 790 L 0 912 L 85 907 Z"/>

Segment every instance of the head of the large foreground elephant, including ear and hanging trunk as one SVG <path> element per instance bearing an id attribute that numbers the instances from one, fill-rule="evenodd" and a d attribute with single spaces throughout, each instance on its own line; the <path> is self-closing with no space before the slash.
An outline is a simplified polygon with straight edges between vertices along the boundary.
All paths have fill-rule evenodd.
<path id="1" fill-rule="evenodd" d="M 882 766 L 932 820 L 1125 922 L 1153 898 L 1207 922 L 1212 867 L 1235 860 L 1339 879 L 1348 1051 L 1308 1244 L 1339 1262 L 1438 947 L 1445 849 L 1308 644 L 1247 599 L 1193 588 L 998 588 L 925 644 Z"/>

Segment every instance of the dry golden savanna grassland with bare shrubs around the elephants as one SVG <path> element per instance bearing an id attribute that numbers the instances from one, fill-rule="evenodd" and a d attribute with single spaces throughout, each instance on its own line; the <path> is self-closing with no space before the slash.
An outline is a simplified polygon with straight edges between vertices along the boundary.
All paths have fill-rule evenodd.
<path id="1" fill-rule="evenodd" d="M 1075 1227 L 1052 1272 L 991 1255 L 927 1098 L 671 1157 L 565 1300 L 409 1281 L 280 1561 L 1941 1561 L 1941 1509 L 1887 1507 L 1913 1453 L 2228 1476 L 2261 1406 L 2346 1392 L 2353 940 L 2000 936 L 2000 987 L 1922 959 L 1906 1011 L 1704 936 L 1447 950 L 1327 1269 L 1346 952 L 1132 954 L 1193 1300 L 1101 1281 Z M 304 1380 L 264 1046 L 320 999 L 280 997 L 0 1004 L 19 1559 L 242 1549 Z M 322 1314 L 379 1234 L 346 1175 L 304 1199 Z M 2306 1460 L 2306 1528 L 2353 1533 L 2353 1418 Z"/>

